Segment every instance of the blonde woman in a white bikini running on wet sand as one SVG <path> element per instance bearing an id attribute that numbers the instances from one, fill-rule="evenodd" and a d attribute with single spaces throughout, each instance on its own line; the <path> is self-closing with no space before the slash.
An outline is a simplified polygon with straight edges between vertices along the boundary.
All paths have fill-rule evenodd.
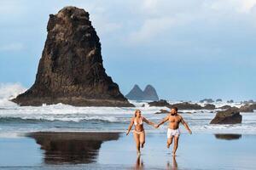
<path id="1" fill-rule="evenodd" d="M 145 144 L 145 130 L 143 128 L 143 122 L 146 122 L 149 125 L 156 127 L 156 125 L 153 122 L 149 122 L 145 117 L 142 116 L 142 112 L 140 110 L 136 110 L 134 113 L 134 117 L 131 118 L 131 123 L 126 133 L 126 135 L 130 133 L 131 127 L 134 124 L 135 128 L 133 131 L 133 136 L 137 146 L 137 155 L 141 154 L 140 148 L 143 148 Z"/>

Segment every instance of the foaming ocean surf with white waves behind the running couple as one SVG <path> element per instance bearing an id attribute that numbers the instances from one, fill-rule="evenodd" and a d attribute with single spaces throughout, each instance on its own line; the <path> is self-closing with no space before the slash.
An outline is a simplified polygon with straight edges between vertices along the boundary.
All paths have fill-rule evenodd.
<path id="1" fill-rule="evenodd" d="M 19 84 L 0 86 L 0 137 L 10 138 L 38 131 L 57 132 L 125 132 L 134 111 L 139 109 L 151 122 L 160 122 L 166 114 L 155 114 L 166 107 L 150 107 L 147 101 L 131 101 L 136 107 L 75 107 L 72 105 L 19 106 L 9 99 L 26 90 Z M 169 101 L 177 103 L 179 101 Z M 194 102 L 198 103 L 198 102 Z M 204 105 L 198 103 L 199 105 Z M 241 103 L 213 103 L 217 107 Z M 236 125 L 210 125 L 218 109 L 213 111 L 181 111 L 193 133 L 241 133 L 256 134 L 256 113 L 241 113 L 242 122 Z M 165 133 L 167 123 L 155 129 L 145 125 L 150 133 Z M 187 133 L 181 126 L 181 132 Z"/>

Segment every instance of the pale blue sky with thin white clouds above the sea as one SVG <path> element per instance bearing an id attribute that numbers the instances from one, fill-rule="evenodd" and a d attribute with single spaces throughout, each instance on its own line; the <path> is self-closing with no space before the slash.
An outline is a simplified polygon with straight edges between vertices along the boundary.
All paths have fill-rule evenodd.
<path id="1" fill-rule="evenodd" d="M 152 84 L 160 99 L 256 99 L 256 0 L 2 0 L 0 83 L 32 86 L 49 14 L 70 5 L 90 13 L 123 94 Z"/>

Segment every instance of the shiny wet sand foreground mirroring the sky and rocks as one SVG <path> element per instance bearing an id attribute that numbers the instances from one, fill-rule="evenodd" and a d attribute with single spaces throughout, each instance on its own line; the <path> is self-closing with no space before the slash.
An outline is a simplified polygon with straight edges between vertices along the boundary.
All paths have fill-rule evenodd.
<path id="1" fill-rule="evenodd" d="M 177 156 L 166 133 L 147 133 L 142 156 L 132 134 L 29 133 L 0 139 L 0 169 L 255 169 L 256 135 L 182 134 Z"/>

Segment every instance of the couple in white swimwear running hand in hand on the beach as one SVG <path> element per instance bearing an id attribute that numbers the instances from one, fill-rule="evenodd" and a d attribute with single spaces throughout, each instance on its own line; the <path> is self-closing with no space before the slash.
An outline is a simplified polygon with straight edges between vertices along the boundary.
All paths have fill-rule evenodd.
<path id="1" fill-rule="evenodd" d="M 154 126 L 155 128 L 160 127 L 161 124 L 169 121 L 169 127 L 167 131 L 167 148 L 170 147 L 172 144 L 172 140 L 174 139 L 174 146 L 172 151 L 172 156 L 176 156 L 176 150 L 177 150 L 177 143 L 178 143 L 178 137 L 180 134 L 179 131 L 179 123 L 181 122 L 184 127 L 189 131 L 191 134 L 191 130 L 189 129 L 189 126 L 186 122 L 184 122 L 183 117 L 177 114 L 177 107 L 172 107 L 172 110 L 168 116 L 166 116 L 159 124 L 154 124 L 154 122 L 148 121 L 145 117 L 142 116 L 140 110 L 135 111 L 134 117 L 131 118 L 131 123 L 128 127 L 128 131 L 126 135 L 128 135 L 131 131 L 131 127 L 134 125 L 134 140 L 136 142 L 137 146 L 137 154 L 140 155 L 140 148 L 144 146 L 145 144 L 145 131 L 143 128 L 143 122 L 148 123 L 149 125 Z"/>

